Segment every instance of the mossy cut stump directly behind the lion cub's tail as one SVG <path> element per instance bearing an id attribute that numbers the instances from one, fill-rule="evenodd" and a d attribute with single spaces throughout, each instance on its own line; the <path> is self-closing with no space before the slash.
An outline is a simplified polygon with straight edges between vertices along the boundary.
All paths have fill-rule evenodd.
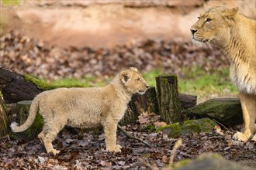
<path id="1" fill-rule="evenodd" d="M 31 102 L 31 100 L 23 100 L 17 103 L 17 123 L 19 125 L 24 124 L 27 117 L 29 117 Z M 26 141 L 33 140 L 34 138 L 37 138 L 37 135 L 42 131 L 42 128 L 43 117 L 37 113 L 33 124 L 26 131 L 20 132 L 19 136 Z"/>

